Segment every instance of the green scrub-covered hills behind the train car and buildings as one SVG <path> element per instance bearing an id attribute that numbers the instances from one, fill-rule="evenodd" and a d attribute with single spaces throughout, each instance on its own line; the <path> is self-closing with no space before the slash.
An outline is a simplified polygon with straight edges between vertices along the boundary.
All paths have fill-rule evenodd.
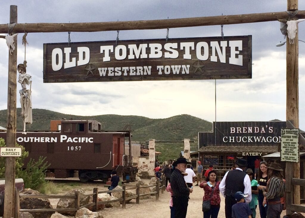
<path id="1" fill-rule="evenodd" d="M 17 130 L 23 130 L 20 116 L 21 109 L 17 108 Z M 76 116 L 57 113 L 45 109 L 33 109 L 33 123 L 27 125 L 27 130 L 50 130 L 50 120 L 62 118 L 73 120 L 97 120 L 102 123 L 103 130 L 123 130 L 130 125 L 133 130 L 132 141 L 145 143 L 149 139 L 156 141 L 177 141 L 189 138 L 191 151 L 198 150 L 198 132 L 211 131 L 212 123 L 187 114 L 172 116 L 165 119 L 150 119 L 143 116 L 121 116 L 114 114 L 98 116 Z M 0 110 L 0 126 L 6 127 L 6 110 Z M 183 143 L 156 143 L 156 150 L 162 152 L 161 161 L 175 159 L 183 151 Z"/>

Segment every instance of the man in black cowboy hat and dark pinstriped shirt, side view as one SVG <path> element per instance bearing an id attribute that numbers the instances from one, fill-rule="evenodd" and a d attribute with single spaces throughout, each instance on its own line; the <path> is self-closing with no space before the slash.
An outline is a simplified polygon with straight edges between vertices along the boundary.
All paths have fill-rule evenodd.
<path id="1" fill-rule="evenodd" d="M 186 161 L 184 157 L 178 158 L 173 166 L 176 169 L 170 175 L 170 187 L 173 191 L 173 208 L 175 218 L 185 218 L 188 209 L 188 196 L 192 193 L 193 189 L 188 188 L 183 178 L 183 172 L 185 172 Z"/>

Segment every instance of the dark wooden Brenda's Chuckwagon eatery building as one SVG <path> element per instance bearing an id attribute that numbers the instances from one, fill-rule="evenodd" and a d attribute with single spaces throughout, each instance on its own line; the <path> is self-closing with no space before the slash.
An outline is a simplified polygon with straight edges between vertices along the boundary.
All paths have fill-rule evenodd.
<path id="1" fill-rule="evenodd" d="M 216 127 L 215 127 L 216 125 Z M 229 170 L 237 158 L 248 161 L 254 172 L 254 161 L 278 152 L 281 145 L 283 121 L 213 122 L 212 132 L 198 133 L 198 154 L 203 167 L 212 164 L 217 169 Z"/>

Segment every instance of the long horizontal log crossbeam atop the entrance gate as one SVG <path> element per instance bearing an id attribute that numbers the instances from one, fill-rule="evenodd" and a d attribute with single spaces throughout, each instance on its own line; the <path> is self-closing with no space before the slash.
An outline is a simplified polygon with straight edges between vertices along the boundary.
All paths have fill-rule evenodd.
<path id="1" fill-rule="evenodd" d="M 305 18 L 305 11 L 299 11 L 295 16 Z M 257 23 L 288 19 L 287 12 L 254 13 L 239 15 L 222 15 L 209 17 L 192 17 L 166 20 L 138 20 L 117 22 L 94 22 L 94 23 L 17 23 L 14 33 L 38 33 L 38 32 L 98 32 L 111 30 L 148 30 L 166 29 L 178 27 L 198 27 L 227 25 L 238 23 Z M 0 24 L 0 34 L 7 33 L 7 24 Z"/>

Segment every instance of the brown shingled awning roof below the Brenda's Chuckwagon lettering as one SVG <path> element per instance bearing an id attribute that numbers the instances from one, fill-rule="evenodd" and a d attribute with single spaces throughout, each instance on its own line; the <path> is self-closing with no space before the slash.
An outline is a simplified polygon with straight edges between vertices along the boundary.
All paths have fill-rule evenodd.
<path id="1" fill-rule="evenodd" d="M 274 153 L 278 151 L 275 146 L 203 146 L 199 152 L 264 152 Z"/>

